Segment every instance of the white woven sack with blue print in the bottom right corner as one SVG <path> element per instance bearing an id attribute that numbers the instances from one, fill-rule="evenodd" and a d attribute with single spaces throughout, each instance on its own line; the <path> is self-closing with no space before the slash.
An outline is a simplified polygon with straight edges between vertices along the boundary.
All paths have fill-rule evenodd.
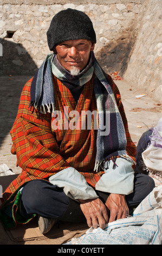
<path id="1" fill-rule="evenodd" d="M 139 204 L 132 217 L 108 223 L 105 229 L 90 228 L 72 245 L 161 245 L 162 244 L 162 186 Z"/>

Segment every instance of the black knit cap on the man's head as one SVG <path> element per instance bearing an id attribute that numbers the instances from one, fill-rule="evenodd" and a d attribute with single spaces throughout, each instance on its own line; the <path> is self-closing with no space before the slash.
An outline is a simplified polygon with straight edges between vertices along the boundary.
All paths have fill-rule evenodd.
<path id="1" fill-rule="evenodd" d="M 47 31 L 48 46 L 52 51 L 57 44 L 75 39 L 87 39 L 96 43 L 93 23 L 88 15 L 68 8 L 57 13 L 51 20 Z"/>

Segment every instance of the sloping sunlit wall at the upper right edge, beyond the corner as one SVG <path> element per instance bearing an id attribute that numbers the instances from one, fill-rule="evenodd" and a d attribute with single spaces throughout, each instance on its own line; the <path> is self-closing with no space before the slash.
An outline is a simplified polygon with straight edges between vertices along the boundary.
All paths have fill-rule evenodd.
<path id="1" fill-rule="evenodd" d="M 162 1 L 147 0 L 124 77 L 162 103 Z"/>

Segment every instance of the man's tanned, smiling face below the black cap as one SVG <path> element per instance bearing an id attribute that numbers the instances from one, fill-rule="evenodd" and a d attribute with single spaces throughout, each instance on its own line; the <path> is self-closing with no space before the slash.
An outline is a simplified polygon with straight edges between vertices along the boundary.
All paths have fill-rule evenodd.
<path id="1" fill-rule="evenodd" d="M 85 39 L 64 41 L 56 46 L 57 58 L 64 69 L 70 71 L 75 67 L 82 71 L 88 64 L 94 45 Z"/>

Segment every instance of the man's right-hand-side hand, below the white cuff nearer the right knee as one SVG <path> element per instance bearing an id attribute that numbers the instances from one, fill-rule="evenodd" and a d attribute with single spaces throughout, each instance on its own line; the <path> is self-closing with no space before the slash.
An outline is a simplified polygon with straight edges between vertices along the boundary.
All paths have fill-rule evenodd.
<path id="1" fill-rule="evenodd" d="M 110 211 L 109 222 L 119 220 L 120 218 L 126 218 L 126 215 L 129 214 L 124 194 L 110 194 L 105 205 Z"/>

